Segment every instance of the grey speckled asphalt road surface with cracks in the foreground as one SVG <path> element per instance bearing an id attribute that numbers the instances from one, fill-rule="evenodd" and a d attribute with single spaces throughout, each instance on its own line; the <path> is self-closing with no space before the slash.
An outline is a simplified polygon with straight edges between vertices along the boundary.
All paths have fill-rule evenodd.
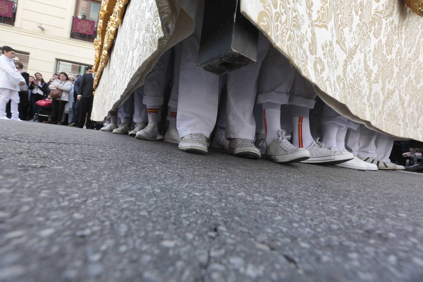
<path id="1" fill-rule="evenodd" d="M 423 281 L 423 175 L 0 120 L 0 281 Z"/>

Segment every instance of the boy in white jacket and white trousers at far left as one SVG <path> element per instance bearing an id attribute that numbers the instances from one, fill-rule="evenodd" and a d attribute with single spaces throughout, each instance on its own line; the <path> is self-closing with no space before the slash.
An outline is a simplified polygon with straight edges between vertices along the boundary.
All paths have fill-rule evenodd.
<path id="1" fill-rule="evenodd" d="M 2 47 L 0 55 L 0 119 L 6 117 L 6 104 L 11 100 L 11 120 L 19 120 L 19 86 L 25 85 L 25 79 L 16 69 L 13 62 L 15 50 L 8 46 Z"/>

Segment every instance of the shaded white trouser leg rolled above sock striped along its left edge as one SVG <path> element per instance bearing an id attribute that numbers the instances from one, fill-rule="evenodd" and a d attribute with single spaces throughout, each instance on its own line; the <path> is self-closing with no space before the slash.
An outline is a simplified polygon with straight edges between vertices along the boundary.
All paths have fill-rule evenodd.
<path id="1" fill-rule="evenodd" d="M 270 46 L 261 64 L 257 104 L 266 102 L 288 104 L 294 75 L 295 68 L 290 65 L 288 59 Z"/>

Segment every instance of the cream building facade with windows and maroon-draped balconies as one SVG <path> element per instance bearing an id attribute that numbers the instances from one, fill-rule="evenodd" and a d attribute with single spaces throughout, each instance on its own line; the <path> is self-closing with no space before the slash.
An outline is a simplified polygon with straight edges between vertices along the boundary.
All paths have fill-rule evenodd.
<path id="1" fill-rule="evenodd" d="M 94 63 L 101 0 L 0 0 L 0 46 L 29 74 L 82 74 Z"/>

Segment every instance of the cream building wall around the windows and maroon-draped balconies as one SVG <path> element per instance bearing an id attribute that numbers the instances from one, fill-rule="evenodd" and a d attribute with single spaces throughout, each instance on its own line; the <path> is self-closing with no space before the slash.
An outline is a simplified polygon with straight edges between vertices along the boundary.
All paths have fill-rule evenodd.
<path id="1" fill-rule="evenodd" d="M 77 0 L 16 2 L 14 26 L 0 24 L 0 45 L 29 53 L 29 74 L 40 72 L 47 80 L 56 72 L 58 60 L 93 65 L 93 43 L 70 38 Z"/>

